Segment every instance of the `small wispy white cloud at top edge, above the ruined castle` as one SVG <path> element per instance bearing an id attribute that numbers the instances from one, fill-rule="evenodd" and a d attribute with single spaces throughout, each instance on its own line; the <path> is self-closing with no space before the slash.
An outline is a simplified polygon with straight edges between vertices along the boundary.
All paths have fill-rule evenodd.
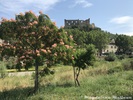
<path id="1" fill-rule="evenodd" d="M 88 2 L 87 0 L 74 0 L 74 4 L 71 7 L 75 7 L 81 5 L 83 8 L 91 7 L 93 4 Z"/>

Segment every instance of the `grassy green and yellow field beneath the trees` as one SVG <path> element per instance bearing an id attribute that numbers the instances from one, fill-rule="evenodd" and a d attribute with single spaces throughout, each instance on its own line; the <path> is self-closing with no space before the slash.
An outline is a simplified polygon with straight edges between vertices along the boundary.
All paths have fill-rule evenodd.
<path id="1" fill-rule="evenodd" d="M 74 86 L 71 66 L 54 66 L 51 70 L 55 74 L 40 77 L 40 88 L 33 95 L 28 95 L 34 85 L 33 75 L 6 77 L 0 79 L 0 100 L 132 100 L 132 60 L 98 60 L 81 71 L 80 87 Z"/>

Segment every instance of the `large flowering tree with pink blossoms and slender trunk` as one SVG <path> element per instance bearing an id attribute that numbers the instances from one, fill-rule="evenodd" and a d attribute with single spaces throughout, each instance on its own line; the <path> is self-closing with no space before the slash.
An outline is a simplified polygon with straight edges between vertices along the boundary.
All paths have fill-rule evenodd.
<path id="1" fill-rule="evenodd" d="M 16 19 L 2 19 L 1 38 L 6 39 L 9 46 L 1 49 L 3 55 L 17 56 L 17 64 L 23 61 L 33 62 L 35 65 L 34 92 L 38 89 L 38 66 L 44 62 L 50 66 L 62 61 L 69 63 L 73 61 L 73 38 L 68 36 L 63 28 L 58 29 L 50 18 L 39 12 L 36 16 L 32 11 L 16 15 Z M 1 48 L 5 48 L 5 44 Z M 12 48 L 12 49 L 11 49 Z M 45 59 L 45 60 L 44 60 Z"/>

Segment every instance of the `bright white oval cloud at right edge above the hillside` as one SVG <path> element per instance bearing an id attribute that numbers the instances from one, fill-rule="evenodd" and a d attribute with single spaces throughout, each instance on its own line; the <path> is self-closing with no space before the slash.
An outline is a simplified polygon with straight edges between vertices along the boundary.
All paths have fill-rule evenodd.
<path id="1" fill-rule="evenodd" d="M 133 21 L 133 17 L 131 16 L 122 16 L 122 17 L 115 17 L 110 20 L 111 23 L 115 24 L 126 24 L 130 21 Z"/>

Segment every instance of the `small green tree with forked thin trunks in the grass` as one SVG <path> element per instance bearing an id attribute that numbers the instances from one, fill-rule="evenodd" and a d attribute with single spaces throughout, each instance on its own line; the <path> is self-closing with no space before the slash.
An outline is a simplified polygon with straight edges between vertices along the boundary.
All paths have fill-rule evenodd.
<path id="1" fill-rule="evenodd" d="M 75 86 L 80 86 L 78 77 L 81 69 L 86 69 L 88 66 L 92 66 L 95 61 L 95 47 L 94 45 L 88 45 L 85 49 L 78 49 L 75 53 L 73 72 Z"/>

